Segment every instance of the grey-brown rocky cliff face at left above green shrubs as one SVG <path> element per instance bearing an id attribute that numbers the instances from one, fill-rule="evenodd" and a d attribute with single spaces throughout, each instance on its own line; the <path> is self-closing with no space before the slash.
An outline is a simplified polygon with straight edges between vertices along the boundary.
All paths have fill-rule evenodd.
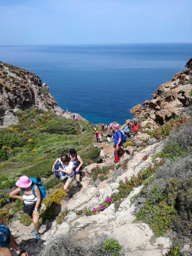
<path id="1" fill-rule="evenodd" d="M 16 111 L 36 106 L 56 116 L 64 111 L 48 93 L 49 86 L 35 74 L 0 62 L 0 128 L 16 124 Z"/>

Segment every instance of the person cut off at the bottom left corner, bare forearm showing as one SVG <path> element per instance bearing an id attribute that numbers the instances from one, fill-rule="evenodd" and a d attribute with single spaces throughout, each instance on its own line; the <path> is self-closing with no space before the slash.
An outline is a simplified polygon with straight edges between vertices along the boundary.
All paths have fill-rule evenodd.
<path id="1" fill-rule="evenodd" d="M 0 216 L 0 255 L 12 256 L 11 250 L 8 246 L 12 247 L 15 253 L 19 256 L 28 256 L 28 253 L 18 246 L 15 238 L 12 236 L 10 229 L 3 223 L 3 218 Z"/>

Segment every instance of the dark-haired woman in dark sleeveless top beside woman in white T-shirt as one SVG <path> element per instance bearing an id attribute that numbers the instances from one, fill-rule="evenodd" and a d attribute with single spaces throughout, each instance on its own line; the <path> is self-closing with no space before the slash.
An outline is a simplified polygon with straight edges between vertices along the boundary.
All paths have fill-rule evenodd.
<path id="1" fill-rule="evenodd" d="M 77 185 L 78 185 L 78 187 L 82 187 L 82 185 L 80 183 L 80 172 L 82 171 L 83 160 L 77 154 L 77 151 L 74 148 L 70 149 L 70 158 L 74 164 L 73 171 L 75 174 Z"/>

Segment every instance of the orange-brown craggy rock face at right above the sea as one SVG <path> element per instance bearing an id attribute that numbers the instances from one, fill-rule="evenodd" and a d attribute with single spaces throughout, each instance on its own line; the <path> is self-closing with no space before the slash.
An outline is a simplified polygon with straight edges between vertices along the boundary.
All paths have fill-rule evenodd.
<path id="1" fill-rule="evenodd" d="M 134 106 L 130 112 L 136 118 L 148 118 L 156 123 L 163 124 L 169 119 L 179 115 L 182 111 L 192 105 L 192 59 L 185 65 L 186 71 L 177 73 L 171 81 L 163 83 L 152 94 L 152 100 L 146 100 L 144 107 Z"/>

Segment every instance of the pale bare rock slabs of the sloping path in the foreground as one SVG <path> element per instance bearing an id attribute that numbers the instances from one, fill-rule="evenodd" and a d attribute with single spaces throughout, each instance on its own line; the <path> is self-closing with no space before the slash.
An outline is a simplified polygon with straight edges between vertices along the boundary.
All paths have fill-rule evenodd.
<path id="1" fill-rule="evenodd" d="M 71 234 L 74 239 L 81 241 L 85 245 L 96 243 L 103 235 L 118 239 L 123 245 L 124 255 L 126 256 L 162 256 L 170 247 L 169 238 L 155 238 L 149 226 L 145 223 L 133 223 L 134 216 L 132 211 L 134 205 L 130 203 L 130 198 L 139 193 L 142 186 L 135 188 L 129 196 L 122 201 L 119 210 L 115 212 L 114 204 L 99 214 L 92 216 L 77 216 L 74 210 L 93 208 L 98 206 L 106 196 L 118 191 L 119 180 L 125 180 L 132 175 L 136 175 L 141 169 L 146 168 L 152 161 L 152 154 L 159 151 L 162 143 L 155 143 L 148 146 L 140 152 L 135 152 L 134 157 L 127 163 L 127 170 L 122 171 L 113 183 L 105 180 L 97 187 L 90 185 L 90 178 L 84 176 L 82 178 L 83 187 L 79 191 L 75 191 L 73 198 L 67 203 L 61 203 L 61 211 L 68 209 L 66 221 L 61 225 L 57 225 L 56 221 L 48 222 L 41 226 L 42 240 L 35 244 L 33 236 L 30 233 L 32 227 L 23 227 L 19 221 L 16 221 L 12 230 L 16 232 L 18 240 L 27 240 L 23 242 L 25 248 L 29 251 L 29 256 L 39 255 L 41 247 L 48 246 L 53 239 L 59 235 Z M 149 155 L 147 160 L 142 160 L 144 155 Z M 101 164 L 103 165 L 103 164 Z M 73 189 L 75 189 L 74 187 Z M 74 193 L 74 191 L 73 191 Z M 21 227 L 22 225 L 22 227 Z M 22 233 L 21 233 L 22 231 Z M 20 232 L 20 233 L 18 233 Z M 13 232 L 14 233 L 14 232 Z M 30 246 L 30 247 L 29 247 Z"/>

